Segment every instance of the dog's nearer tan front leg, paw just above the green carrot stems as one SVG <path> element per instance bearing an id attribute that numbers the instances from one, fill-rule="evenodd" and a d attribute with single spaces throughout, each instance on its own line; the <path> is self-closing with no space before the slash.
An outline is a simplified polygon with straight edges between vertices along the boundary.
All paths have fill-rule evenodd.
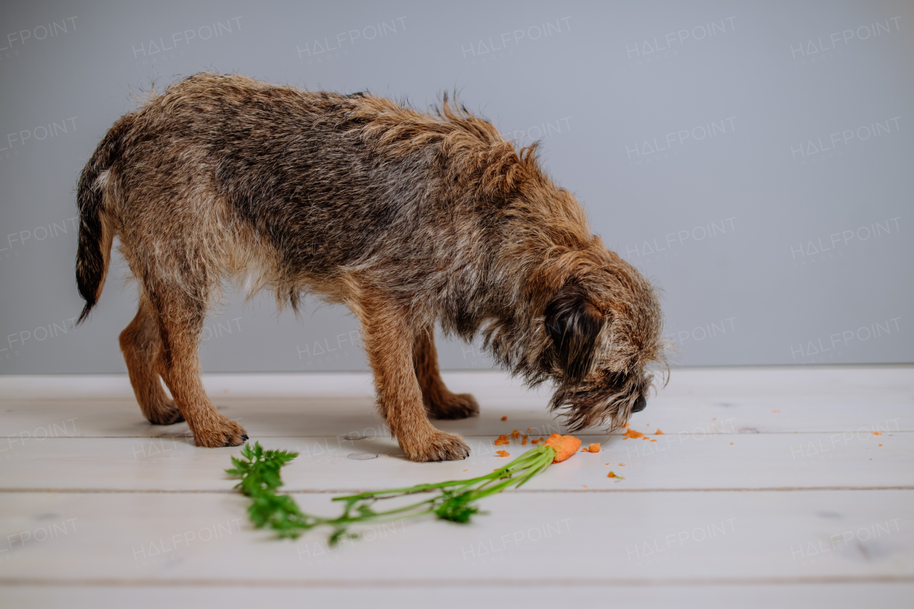
<path id="1" fill-rule="evenodd" d="M 363 341 L 375 373 L 378 408 L 411 461 L 451 461 L 470 454 L 454 433 L 432 426 L 413 366 L 414 332 L 407 315 L 377 302 L 361 307 Z"/>

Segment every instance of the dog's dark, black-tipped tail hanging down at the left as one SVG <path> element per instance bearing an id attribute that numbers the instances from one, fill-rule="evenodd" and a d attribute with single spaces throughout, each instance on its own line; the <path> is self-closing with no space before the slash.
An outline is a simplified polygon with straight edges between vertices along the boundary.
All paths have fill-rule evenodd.
<path id="1" fill-rule="evenodd" d="M 130 127 L 133 117 L 127 115 L 114 123 L 99 143 L 95 153 L 82 169 L 77 188 L 77 207 L 80 209 L 80 236 L 76 252 L 76 284 L 80 296 L 86 301 L 77 324 L 89 316 L 99 302 L 101 288 L 111 260 L 114 228 L 105 214 L 106 192 L 116 192 L 112 184 L 112 165 L 121 152 L 121 140 Z"/>

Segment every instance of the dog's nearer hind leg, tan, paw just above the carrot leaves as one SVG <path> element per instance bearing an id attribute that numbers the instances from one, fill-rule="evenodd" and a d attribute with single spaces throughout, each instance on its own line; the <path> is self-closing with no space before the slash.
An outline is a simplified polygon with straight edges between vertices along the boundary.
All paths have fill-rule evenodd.
<path id="1" fill-rule="evenodd" d="M 201 300 L 189 295 L 202 294 L 203 290 L 188 293 L 193 287 L 147 288 L 162 341 L 155 369 L 175 396 L 175 404 L 194 433 L 197 446 L 238 446 L 248 439 L 248 434 L 216 410 L 203 390 L 197 344 L 206 315 Z"/>

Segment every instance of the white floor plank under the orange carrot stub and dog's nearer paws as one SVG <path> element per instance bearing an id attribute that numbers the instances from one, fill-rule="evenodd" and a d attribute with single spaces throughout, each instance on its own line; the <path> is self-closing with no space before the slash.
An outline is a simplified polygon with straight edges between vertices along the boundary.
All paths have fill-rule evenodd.
<path id="1" fill-rule="evenodd" d="M 600 436 L 580 436 L 584 443 Z M 389 437 L 252 438 L 267 448 L 300 452 L 284 471 L 300 491 L 411 486 L 482 475 L 505 464 L 492 436 L 468 437 L 465 460 L 414 464 Z M 914 433 L 696 434 L 629 440 L 613 436 L 597 454 L 580 453 L 526 488 L 600 491 L 684 488 L 914 486 Z M 881 446 L 879 444 L 882 444 Z M 227 490 L 223 470 L 239 448 L 200 449 L 172 438 L 48 438 L 5 446 L 0 490 Z M 497 447 L 503 448 L 503 447 Z M 504 447 L 513 456 L 528 446 Z M 349 454 L 377 454 L 354 460 Z M 609 465 L 607 465 L 609 464 Z M 625 465 L 619 465 L 625 464 Z M 610 471 L 625 480 L 607 477 Z"/>

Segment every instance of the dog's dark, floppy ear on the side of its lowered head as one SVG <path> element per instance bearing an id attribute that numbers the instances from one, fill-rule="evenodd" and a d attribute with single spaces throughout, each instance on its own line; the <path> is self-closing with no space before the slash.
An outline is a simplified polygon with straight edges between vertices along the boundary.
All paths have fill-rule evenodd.
<path id="1" fill-rule="evenodd" d="M 556 347 L 558 365 L 571 382 L 590 374 L 597 363 L 605 316 L 577 283 L 562 287 L 546 306 L 546 329 Z"/>

